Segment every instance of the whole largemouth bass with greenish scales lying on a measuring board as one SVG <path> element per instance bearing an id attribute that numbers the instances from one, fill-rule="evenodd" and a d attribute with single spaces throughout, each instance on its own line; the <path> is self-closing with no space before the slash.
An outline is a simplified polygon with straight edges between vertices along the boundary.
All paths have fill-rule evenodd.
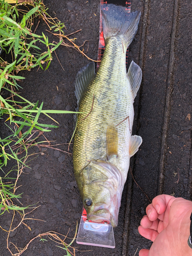
<path id="1" fill-rule="evenodd" d="M 136 34 L 140 12 L 106 4 L 101 8 L 105 50 L 95 73 L 91 62 L 77 73 L 78 114 L 73 142 L 74 175 L 87 219 L 118 225 L 121 196 L 132 157 L 142 138 L 132 135 L 134 98 L 142 71 L 126 50 Z"/>

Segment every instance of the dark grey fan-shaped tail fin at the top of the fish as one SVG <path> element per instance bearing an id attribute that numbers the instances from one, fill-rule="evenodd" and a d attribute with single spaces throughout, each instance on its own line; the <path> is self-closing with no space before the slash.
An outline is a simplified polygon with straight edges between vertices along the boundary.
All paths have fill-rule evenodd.
<path id="1" fill-rule="evenodd" d="M 122 36 L 124 44 L 128 47 L 137 32 L 141 13 L 127 13 L 125 7 L 112 4 L 103 5 L 101 13 L 104 39 Z"/>

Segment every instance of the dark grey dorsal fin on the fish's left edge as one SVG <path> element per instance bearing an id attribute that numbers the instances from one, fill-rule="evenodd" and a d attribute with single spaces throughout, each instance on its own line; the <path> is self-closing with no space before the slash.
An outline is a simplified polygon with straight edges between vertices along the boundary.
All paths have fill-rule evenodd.
<path id="1" fill-rule="evenodd" d="M 86 92 L 91 80 L 95 76 L 95 63 L 91 62 L 86 67 L 83 67 L 75 79 L 75 96 L 77 98 L 77 106 L 82 99 L 84 92 Z M 78 111 L 78 109 L 77 109 Z"/>

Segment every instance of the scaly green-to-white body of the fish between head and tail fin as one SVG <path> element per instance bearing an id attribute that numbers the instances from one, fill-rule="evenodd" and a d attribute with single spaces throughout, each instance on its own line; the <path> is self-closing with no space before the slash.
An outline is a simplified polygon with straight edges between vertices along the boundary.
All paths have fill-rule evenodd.
<path id="1" fill-rule="evenodd" d="M 97 76 L 88 87 L 88 91 L 80 103 L 79 112 L 86 113 L 79 114 L 75 134 L 78 147 L 75 147 L 73 151 L 73 159 L 74 167 L 78 169 L 77 173 L 88 164 L 88 161 L 97 160 L 106 155 L 105 139 L 108 125 L 111 123 L 117 125 L 129 116 L 130 126 L 132 126 L 133 96 L 129 93 L 131 87 L 126 77 L 125 55 L 126 52 L 123 52 L 121 38 L 112 38 L 106 42 Z M 92 112 L 83 120 L 90 112 L 92 103 Z M 121 153 L 124 151 L 124 138 L 128 139 L 130 137 L 129 120 L 126 119 L 117 126 L 120 135 L 119 150 Z M 81 136 L 79 136 L 79 129 L 81 130 Z M 129 142 L 126 144 L 126 152 L 123 155 L 126 156 L 128 151 Z M 121 160 L 119 160 L 119 164 L 121 165 Z M 123 171 L 123 168 L 121 169 Z"/>

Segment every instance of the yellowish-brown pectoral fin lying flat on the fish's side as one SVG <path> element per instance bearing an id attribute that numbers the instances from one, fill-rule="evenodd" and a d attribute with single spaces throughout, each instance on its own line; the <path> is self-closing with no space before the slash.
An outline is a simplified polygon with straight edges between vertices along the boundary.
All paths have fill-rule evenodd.
<path id="1" fill-rule="evenodd" d="M 113 125 L 108 126 L 106 129 L 106 155 L 108 160 L 111 156 L 118 155 L 118 132 Z"/>

